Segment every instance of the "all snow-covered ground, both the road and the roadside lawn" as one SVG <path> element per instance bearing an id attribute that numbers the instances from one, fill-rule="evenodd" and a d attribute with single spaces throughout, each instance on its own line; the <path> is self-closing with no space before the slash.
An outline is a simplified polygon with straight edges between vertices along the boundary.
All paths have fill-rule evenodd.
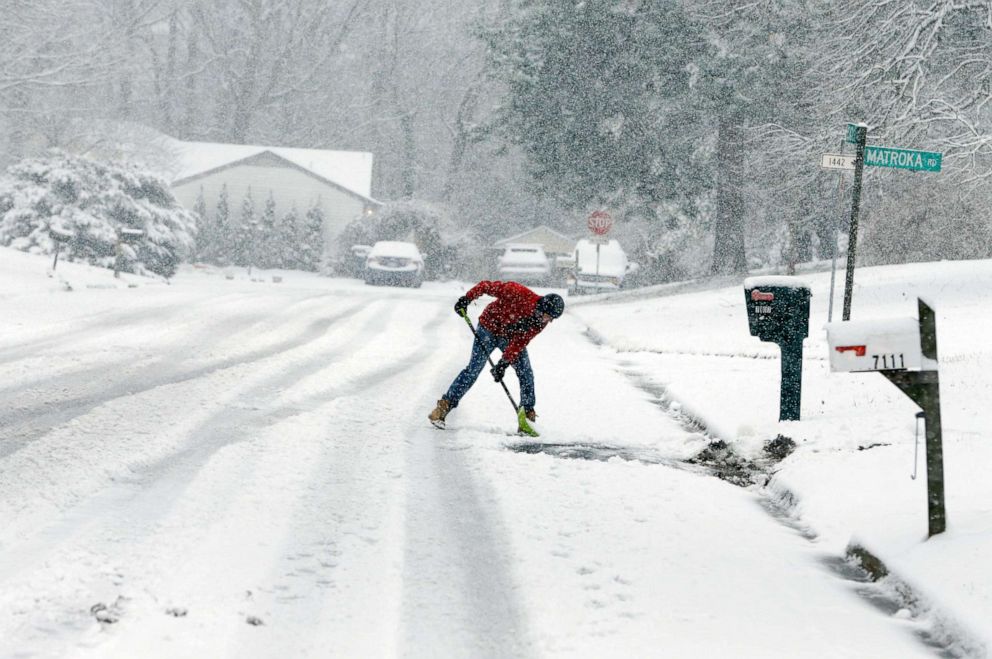
<path id="1" fill-rule="evenodd" d="M 824 275 L 803 421 L 776 422 L 776 349 L 739 286 L 660 288 L 569 300 L 534 341 L 534 442 L 485 376 L 447 431 L 427 424 L 468 356 L 459 284 L 49 265 L 0 248 L 0 656 L 934 656 L 925 637 L 982 656 L 992 638 L 988 263 L 858 274 L 855 317 L 914 314 L 917 291 L 938 311 L 949 530 L 931 540 L 915 408 L 828 372 Z M 799 447 L 765 488 L 683 462 L 780 432 Z M 857 581 L 852 537 L 925 600 Z"/>

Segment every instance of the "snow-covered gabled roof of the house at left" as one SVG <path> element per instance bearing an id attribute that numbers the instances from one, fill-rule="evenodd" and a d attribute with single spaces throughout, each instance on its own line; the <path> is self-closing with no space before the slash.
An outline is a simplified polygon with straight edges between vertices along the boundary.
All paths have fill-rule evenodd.
<path id="1" fill-rule="evenodd" d="M 372 192 L 372 154 L 366 151 L 180 140 L 170 140 L 169 150 L 177 162 L 172 172 L 173 183 L 269 152 L 363 197 L 369 197 Z"/>

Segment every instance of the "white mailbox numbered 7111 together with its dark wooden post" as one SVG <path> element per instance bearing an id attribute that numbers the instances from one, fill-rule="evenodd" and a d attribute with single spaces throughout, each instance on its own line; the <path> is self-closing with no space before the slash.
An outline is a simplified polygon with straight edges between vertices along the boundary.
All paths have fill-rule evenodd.
<path id="1" fill-rule="evenodd" d="M 937 322 L 933 309 L 917 300 L 919 318 L 827 324 L 830 369 L 876 371 L 923 409 L 927 447 L 929 536 L 947 528 L 944 507 L 944 442 L 940 423 Z"/>

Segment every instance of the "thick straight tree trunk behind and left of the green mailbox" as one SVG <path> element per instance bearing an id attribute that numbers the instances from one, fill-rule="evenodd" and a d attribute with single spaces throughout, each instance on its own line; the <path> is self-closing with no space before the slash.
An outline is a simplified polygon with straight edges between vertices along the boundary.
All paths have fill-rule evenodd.
<path id="1" fill-rule="evenodd" d="M 741 179 L 744 163 L 742 117 L 727 111 L 720 117 L 717 135 L 717 212 L 713 229 L 713 274 L 747 272 L 744 251 L 744 199 Z"/>

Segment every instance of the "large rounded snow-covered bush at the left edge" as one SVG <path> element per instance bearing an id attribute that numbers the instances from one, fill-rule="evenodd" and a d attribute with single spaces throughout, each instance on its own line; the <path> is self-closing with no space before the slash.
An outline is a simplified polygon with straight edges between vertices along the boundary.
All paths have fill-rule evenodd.
<path id="1" fill-rule="evenodd" d="M 118 233 L 138 229 L 140 240 L 121 245 L 121 268 L 171 277 L 196 224 L 164 179 L 129 164 L 57 152 L 12 165 L 0 179 L 0 245 L 26 252 L 52 253 L 55 230 L 72 236 L 65 258 L 113 267 Z"/>

